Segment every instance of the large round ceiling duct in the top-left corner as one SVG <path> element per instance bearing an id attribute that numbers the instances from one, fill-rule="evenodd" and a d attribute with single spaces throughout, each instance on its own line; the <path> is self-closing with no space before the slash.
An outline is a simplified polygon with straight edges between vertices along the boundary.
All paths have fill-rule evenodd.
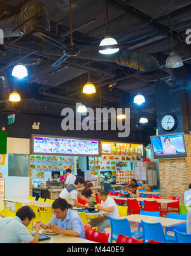
<path id="1" fill-rule="evenodd" d="M 38 2 L 27 3 L 19 15 L 0 20 L 4 38 L 20 36 L 31 29 L 50 31 L 50 20 L 45 6 Z"/>

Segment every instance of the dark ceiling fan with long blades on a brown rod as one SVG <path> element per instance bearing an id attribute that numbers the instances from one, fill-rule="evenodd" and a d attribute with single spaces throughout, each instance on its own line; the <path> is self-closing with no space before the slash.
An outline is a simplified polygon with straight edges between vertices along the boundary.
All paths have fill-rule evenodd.
<path id="1" fill-rule="evenodd" d="M 50 36 L 47 36 L 45 33 L 42 32 L 35 32 L 33 33 L 34 36 L 40 38 L 41 40 L 48 41 L 49 43 L 52 43 L 52 45 L 55 45 L 56 47 L 59 47 L 63 50 L 64 55 L 60 57 L 55 63 L 52 64 L 52 66 L 60 66 L 66 59 L 69 57 L 75 57 L 81 54 L 81 52 L 87 52 L 92 50 L 106 50 L 108 47 L 110 49 L 116 49 L 116 48 L 122 48 L 125 47 L 125 43 L 117 44 L 117 45 L 108 45 L 108 46 L 90 46 L 86 45 L 86 47 L 81 46 L 75 47 L 73 43 L 73 31 L 72 31 L 72 17 L 71 17 L 71 0 L 69 0 L 69 17 L 70 17 L 70 45 L 64 45 L 63 43 L 60 43 L 59 41 L 51 38 Z"/>

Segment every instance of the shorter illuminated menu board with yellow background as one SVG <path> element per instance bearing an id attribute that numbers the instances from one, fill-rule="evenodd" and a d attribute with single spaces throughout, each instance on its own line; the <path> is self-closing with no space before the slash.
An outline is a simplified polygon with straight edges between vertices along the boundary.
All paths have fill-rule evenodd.
<path id="1" fill-rule="evenodd" d="M 120 142 L 101 142 L 101 153 L 111 155 L 143 156 L 143 145 Z M 124 159 L 125 160 L 125 159 Z"/>

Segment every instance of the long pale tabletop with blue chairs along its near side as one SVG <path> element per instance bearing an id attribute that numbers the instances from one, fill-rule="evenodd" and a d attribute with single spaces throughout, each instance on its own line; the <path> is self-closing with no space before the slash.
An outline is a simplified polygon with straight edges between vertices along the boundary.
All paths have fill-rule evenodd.
<path id="1" fill-rule="evenodd" d="M 141 223 L 141 220 L 148 223 L 160 222 L 162 227 L 173 227 L 174 225 L 179 225 L 187 222 L 187 220 L 177 220 L 173 218 L 155 217 L 147 215 L 127 215 L 123 217 L 118 217 L 117 219 L 127 219 L 129 220 L 129 222 L 134 223 Z"/>

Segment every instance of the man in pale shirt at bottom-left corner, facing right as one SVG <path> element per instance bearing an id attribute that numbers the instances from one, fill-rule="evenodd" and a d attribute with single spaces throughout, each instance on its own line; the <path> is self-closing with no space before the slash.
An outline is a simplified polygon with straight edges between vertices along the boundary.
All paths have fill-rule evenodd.
<path id="1" fill-rule="evenodd" d="M 35 213 L 29 206 L 18 209 L 15 217 L 1 218 L 0 243 L 38 243 L 40 221 L 35 224 L 34 237 L 27 230 L 32 218 L 35 218 Z"/>

